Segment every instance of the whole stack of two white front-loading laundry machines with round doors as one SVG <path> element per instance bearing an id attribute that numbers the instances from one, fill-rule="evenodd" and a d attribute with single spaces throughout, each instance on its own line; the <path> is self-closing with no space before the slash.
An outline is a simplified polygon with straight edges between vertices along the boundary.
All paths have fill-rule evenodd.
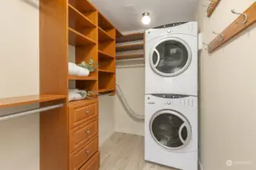
<path id="1" fill-rule="evenodd" d="M 145 159 L 198 170 L 198 24 L 145 32 Z"/>

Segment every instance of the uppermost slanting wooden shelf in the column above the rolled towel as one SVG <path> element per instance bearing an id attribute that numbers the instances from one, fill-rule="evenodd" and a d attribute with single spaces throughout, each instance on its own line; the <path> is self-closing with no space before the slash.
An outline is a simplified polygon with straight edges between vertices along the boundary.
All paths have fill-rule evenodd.
<path id="1" fill-rule="evenodd" d="M 68 26 L 73 29 L 94 28 L 96 25 L 72 5 L 68 5 Z"/>

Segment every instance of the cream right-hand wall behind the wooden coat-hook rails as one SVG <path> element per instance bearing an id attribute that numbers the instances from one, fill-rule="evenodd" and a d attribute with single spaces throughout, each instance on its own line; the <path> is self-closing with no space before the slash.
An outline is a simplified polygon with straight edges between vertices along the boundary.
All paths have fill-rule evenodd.
<path id="1" fill-rule="evenodd" d="M 214 39 L 213 30 L 221 32 L 238 17 L 231 13 L 232 8 L 243 12 L 254 2 L 221 1 L 210 19 L 198 5 L 204 42 Z M 201 54 L 200 154 L 204 170 L 256 169 L 255 43 L 254 24 L 213 54 Z M 227 166 L 227 160 L 233 165 Z"/>

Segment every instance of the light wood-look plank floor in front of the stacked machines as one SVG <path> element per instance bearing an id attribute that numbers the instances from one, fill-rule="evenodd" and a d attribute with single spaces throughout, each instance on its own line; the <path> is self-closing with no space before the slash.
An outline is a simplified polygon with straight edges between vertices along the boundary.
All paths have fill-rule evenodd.
<path id="1" fill-rule="evenodd" d="M 100 148 L 100 170 L 175 170 L 144 160 L 144 137 L 115 132 Z"/>

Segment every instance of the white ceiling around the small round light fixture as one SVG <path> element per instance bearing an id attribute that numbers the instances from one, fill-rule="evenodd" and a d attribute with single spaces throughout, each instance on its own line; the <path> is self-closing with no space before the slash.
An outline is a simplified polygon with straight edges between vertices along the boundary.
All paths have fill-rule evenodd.
<path id="1" fill-rule="evenodd" d="M 121 32 L 194 20 L 198 5 L 198 0 L 91 0 L 91 2 Z M 150 12 L 149 26 L 141 23 L 144 12 Z"/>

